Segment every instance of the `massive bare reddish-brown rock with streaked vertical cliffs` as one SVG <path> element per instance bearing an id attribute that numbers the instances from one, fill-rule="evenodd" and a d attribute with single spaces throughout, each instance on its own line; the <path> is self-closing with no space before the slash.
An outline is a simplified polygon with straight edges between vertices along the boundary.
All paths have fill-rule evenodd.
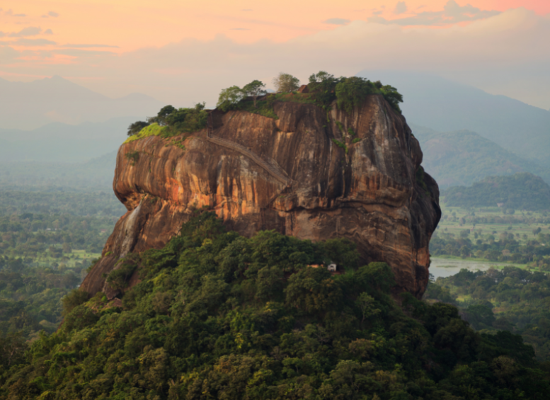
<path id="1" fill-rule="evenodd" d="M 122 144 L 113 188 L 128 211 L 81 289 L 115 297 L 103 274 L 131 251 L 164 246 L 204 207 L 245 236 L 347 237 L 363 262 L 391 265 L 395 293 L 420 297 L 439 190 L 405 118 L 379 95 L 353 113 L 293 101 L 273 107 L 278 120 L 214 110 L 200 132 Z"/>

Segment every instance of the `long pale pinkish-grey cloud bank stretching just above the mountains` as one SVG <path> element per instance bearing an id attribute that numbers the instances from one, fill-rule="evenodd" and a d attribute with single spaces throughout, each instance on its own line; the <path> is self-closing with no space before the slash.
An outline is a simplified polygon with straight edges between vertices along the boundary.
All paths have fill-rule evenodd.
<path id="1" fill-rule="evenodd" d="M 241 27 L 244 23 L 231 25 Z M 500 94 L 548 109 L 550 41 L 541 38 L 549 37 L 549 16 L 517 8 L 452 29 L 353 21 L 286 42 L 241 43 L 217 35 L 212 40 L 185 39 L 120 55 L 96 51 L 101 48 L 39 47 L 55 55 L 45 60 L 40 59 L 45 52 L 28 47 L 25 50 L 38 59 L 34 64 L 10 61 L 23 53 L 0 47 L 0 66 L 4 74 L 101 76 L 103 79 L 93 84 L 96 91 L 109 96 L 142 91 L 178 106 L 197 101 L 215 105 L 222 88 L 242 86 L 251 79 L 268 82 L 280 71 L 306 80 L 319 69 L 337 76 L 363 69 L 409 69 L 480 88 L 486 88 L 483 85 L 489 81 L 493 87 L 506 88 Z M 30 54 L 25 57 L 31 58 Z M 66 62 L 63 57 L 69 56 L 70 62 Z M 56 59 L 62 62 L 56 63 Z M 528 89 L 531 94 L 515 96 Z"/>

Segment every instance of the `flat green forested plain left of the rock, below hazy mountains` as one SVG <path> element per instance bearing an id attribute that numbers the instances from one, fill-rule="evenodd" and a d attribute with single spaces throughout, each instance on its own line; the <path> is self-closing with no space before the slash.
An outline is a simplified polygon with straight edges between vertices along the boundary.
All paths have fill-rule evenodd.
<path id="1" fill-rule="evenodd" d="M 39 188 L 0 190 L 0 342 L 55 332 L 61 299 L 126 211 L 112 193 Z"/>

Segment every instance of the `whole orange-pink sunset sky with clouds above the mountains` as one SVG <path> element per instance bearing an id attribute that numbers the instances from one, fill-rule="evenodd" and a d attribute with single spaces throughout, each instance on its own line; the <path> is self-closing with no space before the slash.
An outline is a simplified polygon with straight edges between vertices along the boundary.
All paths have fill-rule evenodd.
<path id="1" fill-rule="evenodd" d="M 427 72 L 550 108 L 550 0 L 4 0 L 0 77 L 176 106 L 279 72 Z M 372 77 L 376 79 L 376 76 Z M 387 82 L 391 84 L 391 82 Z M 399 88 L 398 88 L 399 89 Z"/>

